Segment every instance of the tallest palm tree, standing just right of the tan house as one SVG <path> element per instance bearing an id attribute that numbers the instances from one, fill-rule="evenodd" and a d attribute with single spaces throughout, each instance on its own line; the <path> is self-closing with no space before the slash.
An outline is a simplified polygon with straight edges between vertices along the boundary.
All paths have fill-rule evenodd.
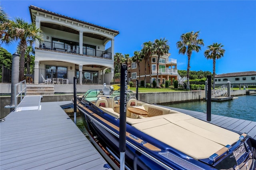
<path id="1" fill-rule="evenodd" d="M 187 88 L 190 90 L 189 87 L 189 70 L 190 70 L 190 58 L 192 55 L 192 51 L 198 52 L 201 50 L 201 45 L 204 45 L 204 42 L 202 39 L 198 39 L 199 35 L 198 32 L 187 32 L 185 34 L 182 34 L 180 36 L 180 41 L 177 42 L 177 48 L 179 49 L 179 54 L 182 53 L 183 55 L 186 53 L 188 56 L 188 67 L 187 67 Z"/>

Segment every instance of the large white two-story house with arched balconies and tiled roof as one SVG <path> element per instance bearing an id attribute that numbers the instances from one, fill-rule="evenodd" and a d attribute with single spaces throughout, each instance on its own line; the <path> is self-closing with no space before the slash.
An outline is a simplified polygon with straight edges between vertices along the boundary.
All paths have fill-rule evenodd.
<path id="1" fill-rule="evenodd" d="M 32 23 L 42 30 L 35 44 L 34 83 L 50 79 L 60 83 L 110 83 L 106 69 L 114 73 L 114 37 L 119 31 L 104 28 L 29 6 Z M 108 49 L 106 44 L 110 42 Z M 109 79 L 109 78 L 108 78 Z"/>

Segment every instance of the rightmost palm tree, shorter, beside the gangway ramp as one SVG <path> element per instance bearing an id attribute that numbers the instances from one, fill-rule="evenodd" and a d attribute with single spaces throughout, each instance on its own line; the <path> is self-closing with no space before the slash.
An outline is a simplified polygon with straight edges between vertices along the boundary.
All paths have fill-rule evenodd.
<path id="1" fill-rule="evenodd" d="M 213 89 L 215 88 L 215 64 L 216 59 L 219 59 L 224 56 L 225 49 L 223 49 L 224 45 L 221 45 L 221 43 L 213 43 L 212 45 L 207 46 L 207 49 L 204 51 L 204 56 L 207 59 L 213 60 Z"/>

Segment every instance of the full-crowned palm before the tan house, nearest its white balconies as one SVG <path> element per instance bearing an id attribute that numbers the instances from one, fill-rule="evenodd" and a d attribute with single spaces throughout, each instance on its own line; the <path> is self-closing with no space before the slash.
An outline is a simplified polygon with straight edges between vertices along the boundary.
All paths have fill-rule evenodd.
<path id="1" fill-rule="evenodd" d="M 170 49 L 170 46 L 168 45 L 168 40 L 165 40 L 160 38 L 160 40 L 155 40 L 153 44 L 153 51 L 154 54 L 157 55 L 157 74 L 156 74 L 156 87 L 159 87 L 159 82 L 158 82 L 158 72 L 159 72 L 159 61 L 160 57 L 163 56 L 164 54 L 168 53 Z"/>

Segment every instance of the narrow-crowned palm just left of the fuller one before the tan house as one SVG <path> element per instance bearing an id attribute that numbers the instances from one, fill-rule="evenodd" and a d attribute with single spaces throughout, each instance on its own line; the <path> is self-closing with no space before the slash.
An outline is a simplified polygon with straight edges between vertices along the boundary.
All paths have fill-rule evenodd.
<path id="1" fill-rule="evenodd" d="M 149 42 L 144 42 L 142 45 L 142 54 L 144 55 L 144 60 L 145 60 L 145 87 L 146 87 L 146 63 L 148 62 L 148 70 L 149 70 L 149 75 L 150 75 L 150 85 L 151 85 L 151 69 L 150 69 L 150 59 L 153 53 L 153 43 L 151 41 Z"/>

